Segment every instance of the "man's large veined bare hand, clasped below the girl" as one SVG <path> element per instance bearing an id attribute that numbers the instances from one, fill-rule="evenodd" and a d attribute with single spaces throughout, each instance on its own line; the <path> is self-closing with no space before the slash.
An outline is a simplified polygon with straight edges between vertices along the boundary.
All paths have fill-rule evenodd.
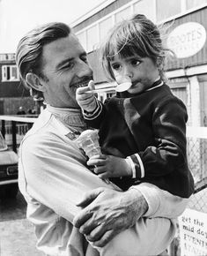
<path id="1" fill-rule="evenodd" d="M 78 207 L 83 209 L 74 218 L 74 226 L 92 245 L 99 247 L 132 227 L 148 208 L 143 195 L 136 189 L 117 192 L 107 188 L 87 192 Z"/>

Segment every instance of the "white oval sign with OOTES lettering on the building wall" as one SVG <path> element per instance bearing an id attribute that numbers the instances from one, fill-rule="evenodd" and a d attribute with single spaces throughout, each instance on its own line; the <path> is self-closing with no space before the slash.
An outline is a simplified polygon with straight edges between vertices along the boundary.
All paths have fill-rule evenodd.
<path id="1" fill-rule="evenodd" d="M 197 22 L 187 22 L 174 28 L 166 43 L 178 58 L 195 55 L 206 41 L 205 28 Z"/>

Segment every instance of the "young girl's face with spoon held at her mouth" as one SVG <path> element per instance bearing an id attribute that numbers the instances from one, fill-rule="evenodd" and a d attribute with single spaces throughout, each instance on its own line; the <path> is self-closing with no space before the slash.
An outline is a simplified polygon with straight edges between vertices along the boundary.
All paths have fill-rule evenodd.
<path id="1" fill-rule="evenodd" d="M 129 94 L 139 94 L 152 87 L 152 84 L 159 78 L 159 70 L 150 57 L 137 55 L 121 57 L 116 55 L 110 61 L 115 79 L 120 83 L 120 77 L 129 77 L 132 86 Z M 116 80 L 117 80 L 116 79 Z"/>

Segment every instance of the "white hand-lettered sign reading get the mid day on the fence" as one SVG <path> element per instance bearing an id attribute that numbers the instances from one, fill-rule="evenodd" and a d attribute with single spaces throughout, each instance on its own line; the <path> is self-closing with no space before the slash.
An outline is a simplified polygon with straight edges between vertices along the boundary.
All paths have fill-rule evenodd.
<path id="1" fill-rule="evenodd" d="M 186 209 L 179 217 L 181 256 L 207 255 L 207 214 Z"/>

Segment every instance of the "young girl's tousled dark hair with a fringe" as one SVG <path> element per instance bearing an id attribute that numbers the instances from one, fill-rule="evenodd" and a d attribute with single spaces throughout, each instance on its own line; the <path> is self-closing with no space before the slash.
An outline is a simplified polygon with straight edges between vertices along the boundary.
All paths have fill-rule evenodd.
<path id="1" fill-rule="evenodd" d="M 160 78 L 165 79 L 166 52 L 171 50 L 164 48 L 158 26 L 143 14 L 123 20 L 113 27 L 101 47 L 102 64 L 110 79 L 115 79 L 110 66 L 110 60 L 115 55 L 150 57 L 158 66 Z"/>

